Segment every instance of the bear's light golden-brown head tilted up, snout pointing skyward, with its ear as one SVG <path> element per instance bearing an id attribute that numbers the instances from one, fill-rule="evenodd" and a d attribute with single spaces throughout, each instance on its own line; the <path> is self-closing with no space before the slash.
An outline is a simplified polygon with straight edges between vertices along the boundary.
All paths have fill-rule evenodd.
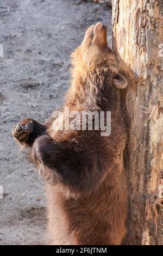
<path id="1" fill-rule="evenodd" d="M 108 46 L 107 29 L 106 25 L 98 22 L 86 30 L 82 44 L 72 53 L 72 76 L 78 73 L 84 77 L 93 70 L 102 70 L 103 73 L 109 72 L 115 87 L 125 88 L 127 80 L 119 74 L 116 54 Z"/>

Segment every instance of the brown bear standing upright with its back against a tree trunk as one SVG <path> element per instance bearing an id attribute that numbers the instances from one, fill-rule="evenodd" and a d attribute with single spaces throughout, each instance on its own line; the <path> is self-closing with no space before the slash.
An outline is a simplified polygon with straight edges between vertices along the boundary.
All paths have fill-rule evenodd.
<path id="1" fill-rule="evenodd" d="M 123 166 L 127 133 L 116 54 L 106 40 L 107 26 L 87 29 L 72 54 L 72 84 L 65 107 L 70 111 L 111 111 L 111 133 L 53 129 L 56 117 L 40 124 L 26 119 L 14 126 L 24 147 L 45 179 L 48 236 L 52 245 L 120 245 L 126 234 L 128 196 Z M 64 126 L 65 127 L 65 126 Z"/>

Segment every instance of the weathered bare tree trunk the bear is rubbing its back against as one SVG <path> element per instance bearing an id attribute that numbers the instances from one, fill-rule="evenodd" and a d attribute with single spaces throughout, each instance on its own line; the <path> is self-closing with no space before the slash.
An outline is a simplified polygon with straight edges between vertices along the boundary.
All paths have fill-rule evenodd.
<path id="1" fill-rule="evenodd" d="M 127 245 L 163 245 L 163 1 L 113 0 L 113 48 L 128 80 L 122 107 L 130 190 Z"/>

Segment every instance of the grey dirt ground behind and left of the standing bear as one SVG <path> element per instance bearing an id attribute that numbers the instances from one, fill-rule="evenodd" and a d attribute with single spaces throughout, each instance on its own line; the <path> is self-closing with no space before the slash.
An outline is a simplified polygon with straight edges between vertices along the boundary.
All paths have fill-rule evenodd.
<path id="1" fill-rule="evenodd" d="M 61 105 L 70 53 L 90 25 L 111 27 L 111 9 L 76 0 L 0 0 L 0 20 L 0 244 L 37 244 L 46 230 L 45 188 L 11 129 L 22 118 L 43 121 Z"/>

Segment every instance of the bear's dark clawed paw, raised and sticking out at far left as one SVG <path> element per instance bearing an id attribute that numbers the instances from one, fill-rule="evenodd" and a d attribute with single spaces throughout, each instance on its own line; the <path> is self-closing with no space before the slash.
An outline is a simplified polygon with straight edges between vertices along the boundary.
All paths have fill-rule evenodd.
<path id="1" fill-rule="evenodd" d="M 12 129 L 12 135 L 18 141 L 22 141 L 33 131 L 33 127 L 33 121 L 29 121 L 27 124 L 18 123 Z"/>

